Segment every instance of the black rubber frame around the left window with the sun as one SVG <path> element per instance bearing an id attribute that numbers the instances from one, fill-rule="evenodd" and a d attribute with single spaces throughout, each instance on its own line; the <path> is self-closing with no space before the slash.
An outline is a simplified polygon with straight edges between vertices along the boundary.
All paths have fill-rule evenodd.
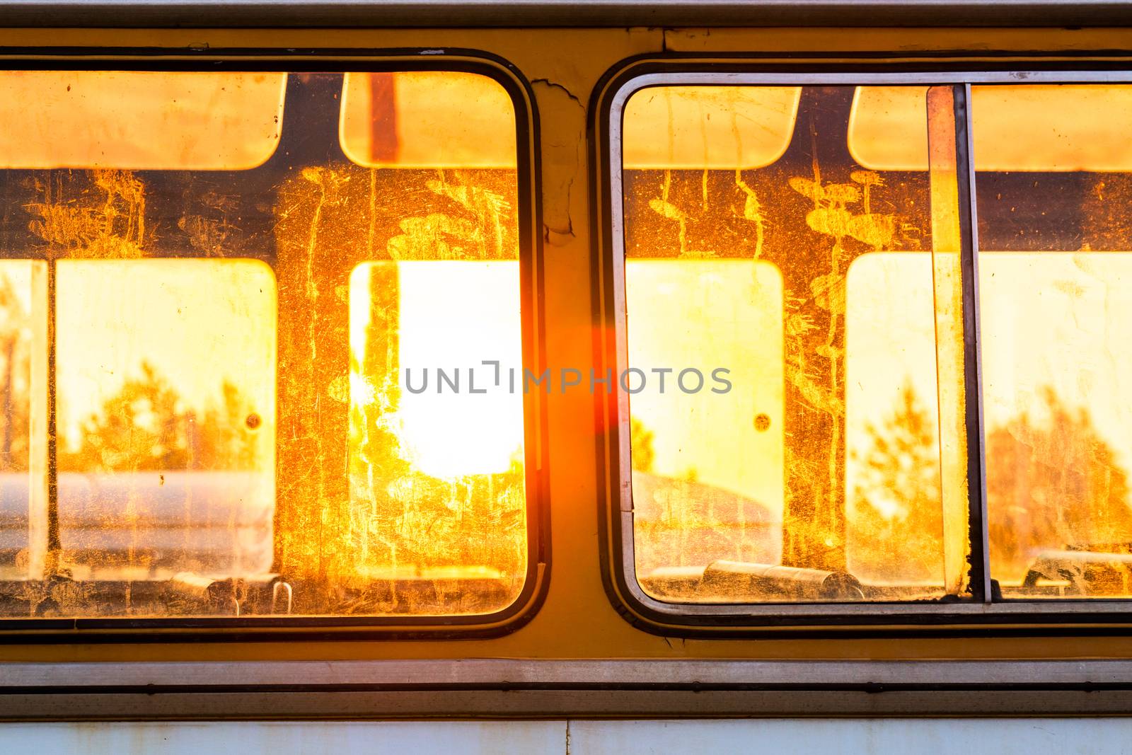
<path id="1" fill-rule="evenodd" d="M 144 48 L 67 48 L 52 57 L 8 57 L 5 70 L 147 70 L 147 71 L 285 71 L 396 72 L 454 71 L 488 76 L 497 81 L 514 105 L 516 135 L 517 206 L 515 207 L 520 302 L 522 311 L 522 361 L 541 372 L 546 366 L 542 266 L 542 203 L 540 186 L 539 115 L 530 81 L 516 66 L 490 52 L 472 49 L 213 49 L 200 54 Z M 341 97 L 340 97 L 341 103 Z M 283 119 L 286 118 L 284 108 Z M 341 126 L 341 110 L 334 111 Z M 338 129 L 335 129 L 338 134 Z M 277 146 L 277 145 L 276 145 Z M 341 152 L 342 147 L 335 147 Z M 277 149 L 276 149 L 277 152 Z M 345 160 L 349 160 L 344 156 Z M 272 157 L 268 157 L 271 161 Z M 255 170 L 255 169 L 252 169 Z M 183 172 L 152 171 L 140 172 Z M 186 255 L 180 258 L 204 258 Z M 43 256 L 12 259 L 45 259 Z M 273 272 L 275 265 L 271 265 Z M 276 320 L 278 321 L 278 320 Z M 50 351 L 50 346 L 49 346 Z M 278 369 L 274 366 L 273 369 Z M 276 397 L 280 404 L 281 398 Z M 278 411 L 278 407 L 277 407 Z M 247 617 L 0 617 L 0 636 L 18 643 L 58 642 L 163 642 L 207 641 L 311 641 L 311 640 L 466 640 L 498 637 L 525 625 L 546 600 L 550 578 L 549 454 L 547 405 L 540 392 L 523 398 L 526 511 L 526 573 L 522 590 L 505 608 L 489 614 L 435 616 L 301 616 Z M 277 441 L 276 441 L 277 443 Z M 276 456 L 276 469 L 280 460 Z M 278 497 L 276 490 L 276 500 Z"/>

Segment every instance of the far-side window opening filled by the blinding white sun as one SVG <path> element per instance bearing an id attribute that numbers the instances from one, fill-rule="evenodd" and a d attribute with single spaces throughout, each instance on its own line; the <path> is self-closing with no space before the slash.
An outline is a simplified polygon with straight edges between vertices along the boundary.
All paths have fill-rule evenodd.
<path id="1" fill-rule="evenodd" d="M 494 583 L 461 595 L 462 612 L 498 610 L 522 589 L 521 323 L 517 261 L 365 263 L 351 273 L 359 573 Z M 498 383 L 484 355 L 499 362 Z"/>

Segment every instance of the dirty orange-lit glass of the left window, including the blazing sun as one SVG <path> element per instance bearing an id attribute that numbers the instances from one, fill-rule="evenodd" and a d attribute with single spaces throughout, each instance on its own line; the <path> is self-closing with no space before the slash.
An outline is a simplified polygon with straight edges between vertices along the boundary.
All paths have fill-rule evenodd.
<path id="1" fill-rule="evenodd" d="M 479 392 L 482 361 L 522 369 L 501 86 L 0 72 L 0 100 L 29 145 L 0 138 L 0 443 L 3 406 L 29 428 L 0 470 L 0 616 L 520 594 L 522 393 Z M 402 387 L 424 369 L 429 392 Z"/>

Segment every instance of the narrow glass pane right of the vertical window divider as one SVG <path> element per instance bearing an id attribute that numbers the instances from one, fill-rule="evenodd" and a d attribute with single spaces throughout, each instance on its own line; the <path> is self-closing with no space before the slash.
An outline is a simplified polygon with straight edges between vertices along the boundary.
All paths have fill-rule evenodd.
<path id="1" fill-rule="evenodd" d="M 1132 86 L 975 87 L 976 149 L 1004 109 L 1032 149 L 976 174 L 990 575 L 1132 597 Z"/>

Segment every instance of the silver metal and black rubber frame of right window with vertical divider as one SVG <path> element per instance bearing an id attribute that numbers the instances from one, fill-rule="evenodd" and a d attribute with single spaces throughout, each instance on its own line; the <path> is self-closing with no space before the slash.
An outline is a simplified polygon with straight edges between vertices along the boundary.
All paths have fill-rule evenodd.
<path id="1" fill-rule="evenodd" d="M 931 59 L 929 59 L 931 60 Z M 946 67 L 860 61 L 829 63 L 760 63 L 751 54 L 694 54 L 637 58 L 609 70 L 594 89 L 590 129 L 593 137 L 591 177 L 594 254 L 594 358 L 599 371 L 627 367 L 625 292 L 625 203 L 620 161 L 621 118 L 636 92 L 671 85 L 748 86 L 953 86 L 955 87 L 955 155 L 961 226 L 963 298 L 963 381 L 968 446 L 968 542 L 971 544 L 972 597 L 958 601 L 861 603 L 675 603 L 646 594 L 637 581 L 634 559 L 633 487 L 629 462 L 628 398 L 623 392 L 594 397 L 599 427 L 599 523 L 602 580 L 614 607 L 646 632 L 685 637 L 741 637 L 753 635 L 876 636 L 893 630 L 964 634 L 997 625 L 1007 630 L 1034 632 L 1040 625 L 1132 625 L 1132 599 L 1017 598 L 992 594 L 987 540 L 986 458 L 983 427 L 981 354 L 979 351 L 978 221 L 972 160 L 970 102 L 979 84 L 1132 84 L 1132 70 L 1113 65 L 1082 66 L 1034 61 L 1034 67 L 997 63 Z M 985 630 L 984 630 L 985 632 Z"/>

